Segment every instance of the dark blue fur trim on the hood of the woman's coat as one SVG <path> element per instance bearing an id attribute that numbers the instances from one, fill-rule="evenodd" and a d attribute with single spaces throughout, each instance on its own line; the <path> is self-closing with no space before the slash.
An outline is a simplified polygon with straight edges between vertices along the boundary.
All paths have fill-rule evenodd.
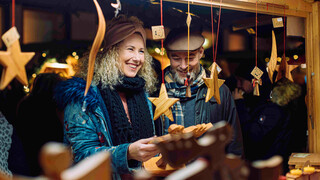
<path id="1" fill-rule="evenodd" d="M 86 81 L 73 77 L 57 85 L 54 90 L 54 99 L 60 109 L 64 109 L 70 103 L 82 103 L 86 100 L 86 110 L 93 111 L 98 106 L 98 93 L 90 86 L 87 96 L 84 97 Z"/>

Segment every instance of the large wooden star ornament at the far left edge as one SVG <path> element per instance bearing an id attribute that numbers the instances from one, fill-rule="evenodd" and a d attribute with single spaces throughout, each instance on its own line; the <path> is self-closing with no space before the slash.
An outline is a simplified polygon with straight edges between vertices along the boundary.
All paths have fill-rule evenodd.
<path id="1" fill-rule="evenodd" d="M 13 78 L 17 78 L 23 85 L 28 85 L 25 65 L 34 54 L 34 52 L 21 52 L 19 40 L 16 40 L 10 47 L 7 47 L 7 51 L 0 51 L 0 64 L 4 67 L 0 81 L 0 90 L 5 89 Z"/>

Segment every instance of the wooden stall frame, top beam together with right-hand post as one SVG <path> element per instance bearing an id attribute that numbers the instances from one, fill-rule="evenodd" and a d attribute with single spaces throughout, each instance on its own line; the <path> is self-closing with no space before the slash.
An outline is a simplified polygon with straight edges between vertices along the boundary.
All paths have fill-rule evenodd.
<path id="1" fill-rule="evenodd" d="M 177 3 L 187 3 L 188 0 L 166 0 Z M 194 5 L 214 7 L 218 1 L 193 0 Z M 255 0 L 224 0 L 222 8 L 255 12 Z M 307 64 L 307 107 L 309 152 L 320 153 L 320 2 L 314 0 L 259 0 L 258 13 L 305 18 L 306 32 L 306 64 Z"/>

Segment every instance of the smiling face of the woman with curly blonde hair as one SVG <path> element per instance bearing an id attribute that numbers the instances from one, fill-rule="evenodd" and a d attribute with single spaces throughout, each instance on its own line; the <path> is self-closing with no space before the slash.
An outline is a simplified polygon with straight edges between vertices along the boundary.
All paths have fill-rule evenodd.
<path id="1" fill-rule="evenodd" d="M 134 33 L 119 45 L 120 68 L 126 77 L 135 77 L 144 63 L 144 41 Z"/>

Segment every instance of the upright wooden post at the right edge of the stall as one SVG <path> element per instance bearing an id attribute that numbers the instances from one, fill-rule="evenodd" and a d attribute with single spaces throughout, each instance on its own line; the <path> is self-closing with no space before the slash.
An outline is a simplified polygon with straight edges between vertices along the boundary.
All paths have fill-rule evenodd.
<path id="1" fill-rule="evenodd" d="M 312 5 L 307 17 L 307 87 L 308 87 L 308 129 L 309 151 L 320 153 L 320 3 Z"/>

